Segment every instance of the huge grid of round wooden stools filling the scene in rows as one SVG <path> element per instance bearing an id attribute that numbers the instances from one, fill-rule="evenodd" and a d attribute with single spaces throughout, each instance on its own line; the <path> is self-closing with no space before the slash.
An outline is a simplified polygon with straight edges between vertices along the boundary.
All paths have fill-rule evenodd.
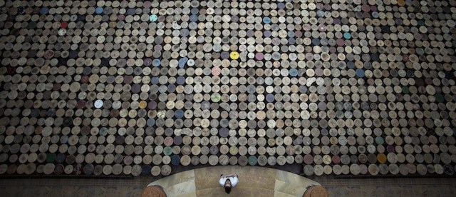
<path id="1" fill-rule="evenodd" d="M 456 1 L 0 0 L 0 174 L 453 175 Z"/>

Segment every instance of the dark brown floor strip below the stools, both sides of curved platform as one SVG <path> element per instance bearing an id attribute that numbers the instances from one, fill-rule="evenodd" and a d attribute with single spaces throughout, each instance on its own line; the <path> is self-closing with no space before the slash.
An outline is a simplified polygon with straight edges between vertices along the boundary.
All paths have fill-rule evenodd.
<path id="1" fill-rule="evenodd" d="M 456 192 L 455 178 L 309 178 L 325 186 L 330 196 L 454 196 Z M 0 180 L 0 193 L 2 196 L 140 196 L 142 188 L 152 181 L 155 180 L 150 176 L 3 178 Z M 242 194 L 242 191 L 236 192 Z"/>

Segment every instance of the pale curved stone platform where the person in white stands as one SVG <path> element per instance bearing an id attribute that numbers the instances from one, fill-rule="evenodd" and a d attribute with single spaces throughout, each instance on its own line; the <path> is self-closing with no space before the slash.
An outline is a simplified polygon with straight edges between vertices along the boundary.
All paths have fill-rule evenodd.
<path id="1" fill-rule="evenodd" d="M 225 196 L 219 186 L 220 174 L 237 173 L 239 184 L 234 196 L 303 196 L 310 186 L 320 183 L 295 173 L 259 166 L 212 166 L 175 173 L 153 181 L 167 196 Z"/>

